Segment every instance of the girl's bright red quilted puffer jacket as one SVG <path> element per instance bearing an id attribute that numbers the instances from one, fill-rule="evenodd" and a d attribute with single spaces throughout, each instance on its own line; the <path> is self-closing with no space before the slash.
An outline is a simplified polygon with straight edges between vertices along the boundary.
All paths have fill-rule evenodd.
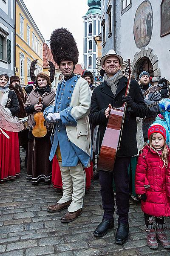
<path id="1" fill-rule="evenodd" d="M 147 196 L 146 202 L 141 201 L 142 211 L 156 217 L 170 216 L 170 155 L 167 168 L 160 168 L 163 165 L 158 153 L 146 145 L 136 166 L 136 194 Z"/>

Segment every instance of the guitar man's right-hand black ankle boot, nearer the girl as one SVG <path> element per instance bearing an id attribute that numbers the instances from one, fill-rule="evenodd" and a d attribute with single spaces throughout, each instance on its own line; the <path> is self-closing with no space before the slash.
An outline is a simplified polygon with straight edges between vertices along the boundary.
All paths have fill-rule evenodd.
<path id="1" fill-rule="evenodd" d="M 116 244 L 124 244 L 128 240 L 129 224 L 118 223 L 118 228 L 115 236 Z"/>

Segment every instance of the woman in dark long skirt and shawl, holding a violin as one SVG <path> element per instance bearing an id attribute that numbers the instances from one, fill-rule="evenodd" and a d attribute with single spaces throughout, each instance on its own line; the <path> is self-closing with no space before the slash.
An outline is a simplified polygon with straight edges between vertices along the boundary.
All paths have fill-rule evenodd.
<path id="1" fill-rule="evenodd" d="M 28 96 L 25 104 L 28 113 L 28 165 L 27 180 L 31 180 L 32 185 L 37 185 L 40 181 L 51 183 L 52 163 L 49 161 L 51 151 L 51 131 L 53 124 L 45 122 L 47 134 L 44 137 L 34 137 L 32 130 L 35 126 L 34 115 L 43 112 L 46 107 L 54 102 L 55 90 L 51 87 L 50 77 L 45 73 L 39 73 L 36 77 L 36 87 Z M 39 99 L 42 103 L 38 103 Z"/>

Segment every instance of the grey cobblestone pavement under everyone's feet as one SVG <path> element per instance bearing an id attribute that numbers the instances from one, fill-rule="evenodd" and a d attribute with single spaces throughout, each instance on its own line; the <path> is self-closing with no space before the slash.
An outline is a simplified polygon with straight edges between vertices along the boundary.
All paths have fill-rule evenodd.
<path id="1" fill-rule="evenodd" d="M 20 178 L 0 184 L 0 255 L 170 255 L 170 250 L 160 245 L 158 250 L 147 247 L 140 205 L 130 206 L 127 243 L 114 243 L 116 229 L 96 239 L 93 232 L 103 214 L 99 190 L 99 181 L 93 180 L 84 198 L 82 215 L 71 223 L 62 224 L 60 218 L 66 209 L 57 213 L 47 212 L 47 206 L 55 204 L 61 192 L 43 183 L 32 186 L 26 181 L 26 169 L 22 168 Z M 166 218 L 166 222 L 170 224 L 170 218 Z M 167 229 L 167 235 L 170 237 L 170 229 Z"/>

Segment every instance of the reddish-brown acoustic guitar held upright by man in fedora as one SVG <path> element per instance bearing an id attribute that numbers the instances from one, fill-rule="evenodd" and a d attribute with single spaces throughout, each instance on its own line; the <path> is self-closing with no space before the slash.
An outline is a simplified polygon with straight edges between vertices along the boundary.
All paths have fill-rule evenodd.
<path id="1" fill-rule="evenodd" d="M 131 69 L 130 59 L 127 61 L 125 73 L 129 73 L 127 81 L 125 96 L 128 96 L 131 81 Z M 97 162 L 97 169 L 107 172 L 113 172 L 113 167 L 116 159 L 117 149 L 119 150 L 120 141 L 122 137 L 122 128 L 125 119 L 127 102 L 124 102 L 120 108 L 112 108 L 109 118 L 108 125 L 105 130 L 105 134 L 102 141 L 102 146 L 99 153 Z M 114 134 L 114 136 L 113 136 Z"/>

